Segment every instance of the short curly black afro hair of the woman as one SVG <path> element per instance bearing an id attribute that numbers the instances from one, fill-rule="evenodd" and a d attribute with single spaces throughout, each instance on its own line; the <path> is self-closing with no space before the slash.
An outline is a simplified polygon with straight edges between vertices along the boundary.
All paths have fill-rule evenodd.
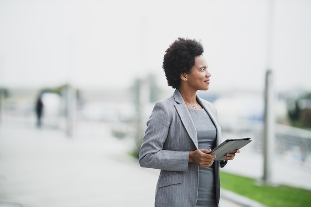
<path id="1" fill-rule="evenodd" d="M 179 37 L 165 51 L 163 69 L 167 84 L 179 88 L 180 75 L 189 73 L 195 64 L 195 57 L 204 52 L 200 41 Z"/>

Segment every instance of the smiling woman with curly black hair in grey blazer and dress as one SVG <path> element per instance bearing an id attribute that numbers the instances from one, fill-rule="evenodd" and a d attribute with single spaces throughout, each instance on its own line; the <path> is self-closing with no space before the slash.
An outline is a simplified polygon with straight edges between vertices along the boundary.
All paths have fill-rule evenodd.
<path id="1" fill-rule="evenodd" d="M 155 207 L 218 207 L 219 167 L 235 156 L 214 161 L 210 154 L 221 129 L 215 107 L 196 95 L 210 84 L 203 52 L 199 41 L 178 38 L 164 55 L 168 85 L 176 90 L 155 104 L 139 156 L 142 167 L 161 170 Z"/>

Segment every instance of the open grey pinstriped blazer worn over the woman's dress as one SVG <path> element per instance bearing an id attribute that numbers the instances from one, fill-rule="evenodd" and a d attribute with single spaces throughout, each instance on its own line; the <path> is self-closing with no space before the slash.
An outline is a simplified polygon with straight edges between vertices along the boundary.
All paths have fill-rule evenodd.
<path id="1" fill-rule="evenodd" d="M 221 129 L 212 103 L 197 96 L 198 103 L 210 115 L 217 130 Z M 198 195 L 196 163 L 189 163 L 189 151 L 198 149 L 197 132 L 185 102 L 176 89 L 174 95 L 158 101 L 147 121 L 139 155 L 141 167 L 160 169 L 155 207 L 194 207 Z M 222 163 L 222 162 L 221 162 Z M 227 162 L 221 164 L 225 166 Z M 217 203 L 220 197 L 220 162 L 214 161 Z"/>

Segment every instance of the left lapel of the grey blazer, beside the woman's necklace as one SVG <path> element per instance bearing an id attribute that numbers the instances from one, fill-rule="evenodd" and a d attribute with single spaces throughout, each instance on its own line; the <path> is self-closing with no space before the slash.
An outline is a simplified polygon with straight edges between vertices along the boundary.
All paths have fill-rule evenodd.
<path id="1" fill-rule="evenodd" d="M 194 123 L 191 119 L 190 113 L 188 108 L 184 104 L 184 100 L 180 94 L 180 92 L 176 89 L 174 92 L 175 98 L 175 108 L 179 114 L 181 122 L 183 123 L 184 127 L 186 128 L 190 138 L 192 139 L 193 143 L 195 144 L 196 148 L 198 149 L 198 135 Z"/>

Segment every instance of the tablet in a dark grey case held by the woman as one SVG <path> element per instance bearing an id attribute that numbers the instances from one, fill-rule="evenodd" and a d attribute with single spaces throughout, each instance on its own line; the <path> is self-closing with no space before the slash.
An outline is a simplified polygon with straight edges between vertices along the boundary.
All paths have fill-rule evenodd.
<path id="1" fill-rule="evenodd" d="M 251 138 L 227 139 L 210 152 L 216 154 L 214 160 L 224 160 L 227 153 L 235 153 L 236 149 L 240 149 L 251 142 Z"/>

